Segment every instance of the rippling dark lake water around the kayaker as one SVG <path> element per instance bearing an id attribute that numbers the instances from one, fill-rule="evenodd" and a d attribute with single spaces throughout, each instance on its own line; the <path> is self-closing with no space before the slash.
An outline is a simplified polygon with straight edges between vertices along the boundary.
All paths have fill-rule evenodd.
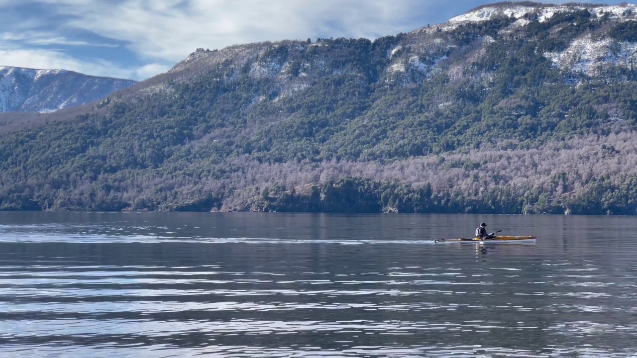
<path id="1" fill-rule="evenodd" d="M 490 231 L 534 245 L 433 243 Z M 637 357 L 637 217 L 0 213 L 1 357 Z"/>

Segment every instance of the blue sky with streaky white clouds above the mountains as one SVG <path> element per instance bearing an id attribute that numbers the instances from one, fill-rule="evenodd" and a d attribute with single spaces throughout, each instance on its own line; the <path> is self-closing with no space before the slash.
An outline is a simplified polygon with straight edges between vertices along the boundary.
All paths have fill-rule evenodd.
<path id="1" fill-rule="evenodd" d="M 0 66 L 145 80 L 168 71 L 197 48 L 282 39 L 375 39 L 441 24 L 495 2 L 0 0 Z"/>

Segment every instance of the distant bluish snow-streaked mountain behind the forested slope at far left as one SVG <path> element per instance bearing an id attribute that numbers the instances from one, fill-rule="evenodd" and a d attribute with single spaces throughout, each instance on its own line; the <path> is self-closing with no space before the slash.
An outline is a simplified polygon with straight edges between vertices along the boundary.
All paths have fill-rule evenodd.
<path id="1" fill-rule="evenodd" d="M 46 113 L 102 99 L 136 83 L 63 69 L 0 66 L 0 113 Z"/>

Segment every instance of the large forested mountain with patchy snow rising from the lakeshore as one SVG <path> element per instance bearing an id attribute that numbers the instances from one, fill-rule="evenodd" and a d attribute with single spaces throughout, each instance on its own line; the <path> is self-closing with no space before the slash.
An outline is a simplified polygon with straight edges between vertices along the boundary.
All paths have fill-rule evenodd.
<path id="1" fill-rule="evenodd" d="M 0 115 L 4 210 L 637 213 L 637 6 L 496 3 L 408 33 L 199 48 Z"/>

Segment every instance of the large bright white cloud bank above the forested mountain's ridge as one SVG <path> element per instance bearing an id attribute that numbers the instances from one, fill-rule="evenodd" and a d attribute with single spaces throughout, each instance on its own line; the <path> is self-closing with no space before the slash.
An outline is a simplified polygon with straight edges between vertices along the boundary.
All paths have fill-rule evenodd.
<path id="1" fill-rule="evenodd" d="M 52 1 L 52 0 L 48 0 Z M 69 26 L 127 43 L 144 59 L 173 62 L 198 47 L 333 37 L 375 38 L 404 29 L 418 0 L 56 0 Z"/>

